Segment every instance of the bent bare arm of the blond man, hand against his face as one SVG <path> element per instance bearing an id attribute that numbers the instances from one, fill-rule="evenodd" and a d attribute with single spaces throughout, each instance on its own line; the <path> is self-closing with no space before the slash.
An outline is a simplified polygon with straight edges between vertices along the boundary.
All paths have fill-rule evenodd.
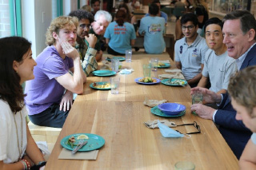
<path id="1" fill-rule="evenodd" d="M 82 93 L 84 73 L 82 71 L 79 53 L 68 42 L 62 48 L 66 56 L 71 57 L 74 61 L 74 74 L 71 76 L 70 73 L 66 73 L 60 77 L 55 77 L 55 79 L 60 85 L 72 93 Z"/>

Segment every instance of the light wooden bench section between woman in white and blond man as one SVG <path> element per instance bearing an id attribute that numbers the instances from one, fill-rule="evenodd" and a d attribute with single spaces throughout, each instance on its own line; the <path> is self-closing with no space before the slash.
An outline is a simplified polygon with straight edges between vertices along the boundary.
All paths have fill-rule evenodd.
<path id="1" fill-rule="evenodd" d="M 28 126 L 35 141 L 46 141 L 47 144 L 55 144 L 58 139 L 58 135 L 62 130 L 62 128 L 34 125 L 31 121 L 28 123 Z"/>

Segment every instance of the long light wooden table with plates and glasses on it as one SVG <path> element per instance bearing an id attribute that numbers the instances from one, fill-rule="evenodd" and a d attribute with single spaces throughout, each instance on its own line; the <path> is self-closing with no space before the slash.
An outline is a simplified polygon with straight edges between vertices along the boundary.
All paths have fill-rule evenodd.
<path id="1" fill-rule="evenodd" d="M 190 113 L 190 87 L 172 87 L 162 84 L 138 85 L 134 78 L 142 77 L 142 65 L 149 62 L 146 53 L 133 54 L 132 62 L 123 67 L 134 69 L 121 77 L 119 94 L 90 89 L 94 81 L 108 81 L 110 77 L 88 77 L 83 95 L 78 95 L 69 116 L 54 145 L 46 169 L 174 169 L 179 160 L 194 162 L 196 169 L 238 169 L 238 160 L 230 150 L 212 121 Z M 168 54 L 158 55 L 160 60 L 170 59 Z M 171 61 L 172 64 L 174 64 Z M 156 73 L 165 73 L 158 69 Z M 178 102 L 186 105 L 182 117 L 158 117 L 143 105 L 145 98 Z M 190 138 L 165 138 L 158 128 L 150 129 L 145 121 L 167 119 L 177 125 L 193 123 L 202 132 Z M 180 132 L 194 132 L 193 126 L 181 126 Z M 97 160 L 58 160 L 62 151 L 60 140 L 79 132 L 102 136 L 106 144 L 100 148 Z"/>

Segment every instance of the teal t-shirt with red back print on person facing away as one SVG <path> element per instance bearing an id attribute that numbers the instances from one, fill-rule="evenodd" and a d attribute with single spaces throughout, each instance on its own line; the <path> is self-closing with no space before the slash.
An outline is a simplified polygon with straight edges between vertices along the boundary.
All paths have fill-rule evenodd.
<path id="1" fill-rule="evenodd" d="M 126 53 L 127 49 L 131 49 L 130 40 L 136 39 L 134 26 L 125 22 L 123 26 L 118 26 L 117 22 L 111 22 L 106 27 L 105 38 L 109 38 L 109 46 L 118 53 Z"/>

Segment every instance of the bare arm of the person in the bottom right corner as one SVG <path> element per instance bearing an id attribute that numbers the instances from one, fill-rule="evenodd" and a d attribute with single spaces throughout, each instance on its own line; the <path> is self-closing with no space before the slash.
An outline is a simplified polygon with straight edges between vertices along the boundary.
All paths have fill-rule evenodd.
<path id="1" fill-rule="evenodd" d="M 239 160 L 240 169 L 256 169 L 256 145 L 250 139 Z"/>

